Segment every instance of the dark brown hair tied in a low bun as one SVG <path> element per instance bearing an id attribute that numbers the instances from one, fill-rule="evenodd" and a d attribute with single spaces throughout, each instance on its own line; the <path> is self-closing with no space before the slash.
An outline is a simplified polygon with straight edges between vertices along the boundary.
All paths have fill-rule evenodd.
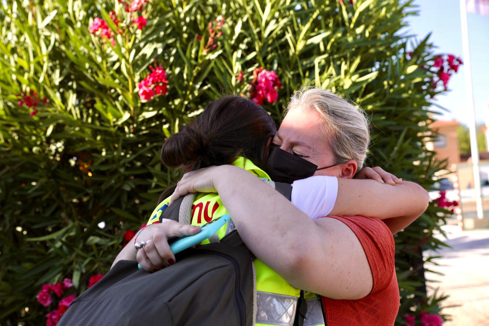
<path id="1" fill-rule="evenodd" d="M 243 156 L 263 168 L 267 140 L 276 132 L 275 122 L 262 107 L 241 96 L 225 96 L 209 103 L 199 117 L 165 141 L 161 161 L 193 171 L 231 164 Z M 174 190 L 172 186 L 163 191 L 158 203 Z"/>

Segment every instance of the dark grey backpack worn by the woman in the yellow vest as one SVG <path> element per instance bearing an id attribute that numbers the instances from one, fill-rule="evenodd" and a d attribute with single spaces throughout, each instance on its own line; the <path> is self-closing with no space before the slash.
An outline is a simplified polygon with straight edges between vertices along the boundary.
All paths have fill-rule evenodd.
<path id="1" fill-rule="evenodd" d="M 290 185 L 271 186 L 290 199 Z M 193 199 L 180 198 L 160 218 L 188 223 Z M 252 326 L 257 313 L 253 257 L 234 230 L 220 241 L 178 253 L 178 263 L 155 273 L 121 260 L 71 303 L 58 326 Z M 302 325 L 307 315 L 304 303 L 298 304 L 294 325 Z"/>

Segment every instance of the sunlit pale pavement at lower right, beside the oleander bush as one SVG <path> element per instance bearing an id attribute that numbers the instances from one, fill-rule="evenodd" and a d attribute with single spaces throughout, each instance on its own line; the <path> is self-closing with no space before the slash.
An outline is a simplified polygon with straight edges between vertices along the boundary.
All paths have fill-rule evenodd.
<path id="1" fill-rule="evenodd" d="M 452 316 L 452 321 L 444 326 L 489 326 L 489 229 L 443 229 L 448 236 L 444 241 L 452 248 L 438 252 L 442 256 L 436 260 L 440 266 L 425 265 L 444 274 L 426 273 L 426 279 L 432 280 L 427 283 L 428 293 L 439 288 L 439 294 L 450 295 L 443 311 Z"/>

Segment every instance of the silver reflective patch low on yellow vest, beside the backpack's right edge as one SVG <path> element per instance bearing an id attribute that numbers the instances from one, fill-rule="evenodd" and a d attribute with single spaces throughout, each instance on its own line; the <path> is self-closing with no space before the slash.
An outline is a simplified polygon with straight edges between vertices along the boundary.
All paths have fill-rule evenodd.
<path id="1" fill-rule="evenodd" d="M 257 291 L 256 323 L 291 326 L 294 322 L 297 297 Z"/>

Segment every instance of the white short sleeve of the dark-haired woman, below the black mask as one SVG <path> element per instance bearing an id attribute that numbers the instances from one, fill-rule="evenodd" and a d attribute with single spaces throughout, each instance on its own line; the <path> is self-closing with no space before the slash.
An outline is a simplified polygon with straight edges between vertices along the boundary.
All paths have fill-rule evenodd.
<path id="1" fill-rule="evenodd" d="M 290 201 L 314 220 L 333 210 L 337 195 L 338 179 L 318 175 L 294 181 Z"/>

